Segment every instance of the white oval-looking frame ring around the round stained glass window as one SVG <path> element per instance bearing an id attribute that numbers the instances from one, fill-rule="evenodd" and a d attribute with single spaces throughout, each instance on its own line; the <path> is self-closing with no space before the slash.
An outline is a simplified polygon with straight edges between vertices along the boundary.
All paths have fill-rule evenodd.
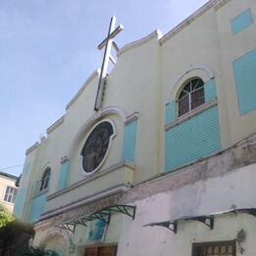
<path id="1" fill-rule="evenodd" d="M 83 142 L 83 144 L 82 144 L 82 148 L 80 149 L 80 153 L 81 153 L 83 147 L 85 146 L 85 144 L 86 144 L 86 142 L 87 142 L 89 136 L 92 134 L 92 132 L 93 132 L 94 129 L 96 128 L 96 126 L 98 126 L 100 123 L 103 123 L 103 122 L 108 122 L 108 123 L 110 123 L 110 125 L 112 126 L 112 129 L 113 129 L 113 133 L 112 133 L 112 135 L 109 137 L 109 142 L 108 142 L 107 150 L 106 150 L 106 152 L 105 152 L 105 155 L 104 155 L 103 159 L 101 160 L 101 162 L 96 166 L 96 168 L 95 168 L 93 171 L 87 172 L 87 171 L 84 169 L 84 167 L 83 167 L 83 156 L 80 155 L 80 169 L 81 169 L 83 175 L 85 175 L 85 176 L 91 176 L 91 175 L 95 174 L 96 171 L 102 166 L 102 164 L 103 164 L 104 161 L 106 160 L 106 157 L 108 156 L 108 153 L 109 153 L 109 150 L 110 150 L 110 147 L 111 147 L 111 144 L 112 144 L 112 140 L 113 140 L 113 138 L 116 136 L 116 128 L 115 128 L 115 123 L 114 123 L 114 121 L 113 121 L 112 119 L 109 119 L 109 118 L 105 118 L 105 119 L 103 119 L 103 120 L 100 120 L 100 121 L 97 122 L 97 123 L 93 126 L 93 128 L 91 128 L 90 131 L 88 132 L 88 135 L 86 136 L 86 138 L 85 138 L 85 140 L 84 140 L 84 142 Z"/>

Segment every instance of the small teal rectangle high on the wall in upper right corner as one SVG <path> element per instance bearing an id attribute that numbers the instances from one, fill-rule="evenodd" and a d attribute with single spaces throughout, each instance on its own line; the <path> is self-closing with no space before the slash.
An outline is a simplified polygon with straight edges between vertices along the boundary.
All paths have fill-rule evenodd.
<path id="1" fill-rule="evenodd" d="M 253 24 L 251 9 L 243 11 L 231 20 L 231 31 L 235 35 Z"/>

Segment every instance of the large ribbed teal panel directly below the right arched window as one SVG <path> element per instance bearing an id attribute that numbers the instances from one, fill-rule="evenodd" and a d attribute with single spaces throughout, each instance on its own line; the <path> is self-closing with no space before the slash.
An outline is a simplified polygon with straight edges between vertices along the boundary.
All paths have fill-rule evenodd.
<path id="1" fill-rule="evenodd" d="M 165 171 L 221 150 L 217 106 L 165 132 Z"/>

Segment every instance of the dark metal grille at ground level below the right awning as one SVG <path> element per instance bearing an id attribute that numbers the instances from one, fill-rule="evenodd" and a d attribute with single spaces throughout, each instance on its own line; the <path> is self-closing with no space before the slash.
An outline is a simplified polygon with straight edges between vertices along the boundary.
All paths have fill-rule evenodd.
<path id="1" fill-rule="evenodd" d="M 235 241 L 193 244 L 193 256 L 235 256 L 235 251 Z"/>

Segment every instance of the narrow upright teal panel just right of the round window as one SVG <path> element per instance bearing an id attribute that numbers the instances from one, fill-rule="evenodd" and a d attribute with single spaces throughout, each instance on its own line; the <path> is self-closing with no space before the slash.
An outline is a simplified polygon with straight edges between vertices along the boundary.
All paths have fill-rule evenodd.
<path id="1" fill-rule="evenodd" d="M 124 128 L 124 140 L 123 140 L 123 160 L 134 161 L 135 157 L 135 145 L 136 145 L 136 133 L 137 133 L 137 120 L 129 123 Z"/>

